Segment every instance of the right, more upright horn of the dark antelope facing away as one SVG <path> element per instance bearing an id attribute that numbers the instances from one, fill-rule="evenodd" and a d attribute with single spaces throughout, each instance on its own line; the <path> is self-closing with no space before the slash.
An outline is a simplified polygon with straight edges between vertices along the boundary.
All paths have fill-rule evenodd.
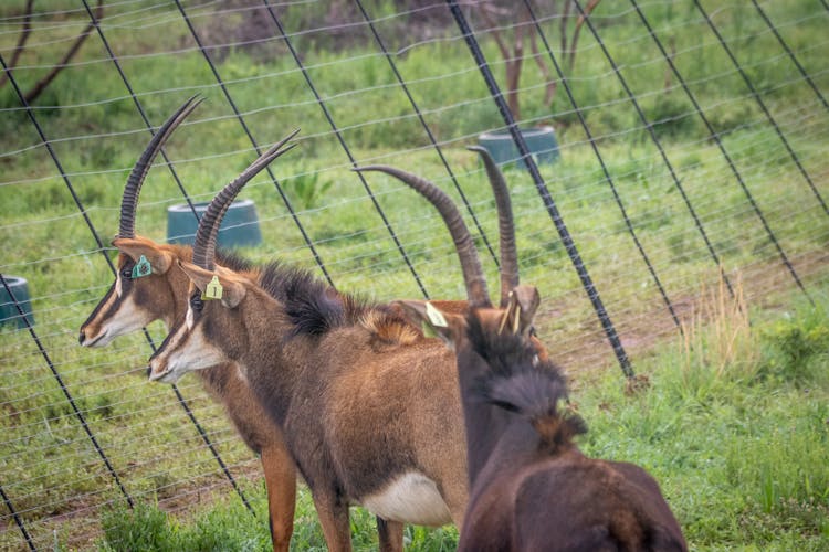
<path id="1" fill-rule="evenodd" d="M 499 212 L 499 236 L 501 250 L 501 308 L 505 308 L 510 291 L 518 285 L 518 253 L 515 247 L 515 224 L 513 223 L 513 208 L 510 201 L 510 189 L 506 187 L 504 174 L 499 169 L 492 156 L 481 146 L 469 146 L 470 151 L 478 151 L 486 167 L 492 193 Z"/>

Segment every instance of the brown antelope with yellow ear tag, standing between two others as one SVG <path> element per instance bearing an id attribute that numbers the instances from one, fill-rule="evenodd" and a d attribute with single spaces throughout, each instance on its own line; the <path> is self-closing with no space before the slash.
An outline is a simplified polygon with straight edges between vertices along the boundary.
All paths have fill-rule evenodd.
<path id="1" fill-rule="evenodd" d="M 427 197 L 442 194 L 408 177 Z M 190 301 L 185 320 L 150 358 L 150 380 L 240 367 L 283 429 L 330 550 L 350 550 L 353 503 L 395 534 L 403 522 L 460 527 L 466 461 L 451 351 L 424 339 L 396 309 L 337 294 L 296 268 L 216 266 L 217 229 L 240 189 L 228 185 L 213 199 L 199 223 L 192 263 L 179 262 L 191 280 Z M 469 232 L 455 246 L 473 248 Z"/>

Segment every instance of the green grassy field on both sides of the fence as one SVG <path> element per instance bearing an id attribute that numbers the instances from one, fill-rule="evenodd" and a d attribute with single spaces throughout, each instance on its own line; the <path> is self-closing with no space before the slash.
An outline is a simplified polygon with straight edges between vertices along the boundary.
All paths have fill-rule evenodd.
<path id="1" fill-rule="evenodd" d="M 0 7 L 0 19 L 9 29 L 19 24 L 14 18 L 23 4 Z M 713 2 L 703 4 L 715 8 Z M 368 6 L 376 17 L 395 13 L 390 2 Z M 30 46 L 14 71 L 24 89 L 86 24 L 85 12 L 72 11 L 77 10 L 73 2 L 43 2 L 41 8 L 50 14 L 35 21 Z M 829 91 L 827 12 L 806 0 L 763 8 L 818 88 Z M 244 28 L 249 11 L 213 14 L 209 6 L 188 9 L 208 43 L 224 44 L 211 55 L 259 144 L 274 142 L 302 127 L 300 148 L 280 159 L 274 173 L 336 286 L 378 300 L 422 297 L 421 286 L 431 297 L 461 297 L 453 248 L 432 209 L 398 182 L 369 176 L 367 184 L 420 284 L 412 277 L 282 41 L 248 47 L 241 39 L 223 34 L 234 25 Z M 187 193 L 193 200 L 211 199 L 255 158 L 224 93 L 175 8 L 127 2 L 107 10 L 103 29 L 108 44 L 154 125 L 189 95 L 207 98 L 167 151 Z M 357 36 L 365 40 L 338 41 L 318 19 L 319 10 L 317 4 L 292 8 L 285 25 L 351 157 L 360 164 L 384 162 L 430 178 L 459 202 L 460 188 L 496 248 L 494 201 L 475 156 L 464 146 L 503 123 L 457 30 L 438 28 L 444 38 L 419 42 L 401 31 L 406 19 L 378 21 L 458 188 L 368 31 L 355 23 Z M 829 216 L 804 172 L 819 193 L 829 194 L 827 110 L 753 7 L 716 10 L 714 21 L 798 156 L 800 171 L 699 11 L 690 3 L 652 2 L 644 12 L 657 34 L 673 44 L 674 63 L 734 167 L 627 4 L 602 3 L 594 21 L 654 124 L 670 169 L 587 29 L 569 82 L 609 179 L 563 87 L 546 108 L 543 76 L 532 60 L 525 60 L 524 124 L 553 124 L 562 153 L 556 164 L 541 168 L 542 176 L 634 369 L 647 373 L 653 388 L 633 397 L 622 394 L 618 365 L 534 183 L 524 171 L 507 168 L 522 278 L 537 285 L 544 298 L 539 333 L 573 376 L 574 399 L 591 428 L 585 450 L 650 469 L 662 481 L 694 548 L 819 550 L 827 544 L 829 505 L 821 455 L 829 417 Z M 545 19 L 544 28 L 557 39 L 555 18 Z M 13 32 L 0 33 L 7 63 L 17 38 Z M 483 31 L 479 39 L 501 78 L 503 62 L 492 40 Z M 228 45 L 234 41 L 239 43 Z M 554 49 L 558 53 L 557 40 Z M 123 338 L 101 350 L 76 346 L 80 325 L 111 283 L 102 253 L 113 255 L 106 245 L 117 229 L 124 179 L 149 136 L 99 38 L 90 36 L 32 112 L 65 180 L 8 84 L 0 88 L 0 273 L 29 280 L 34 330 L 43 347 L 41 352 L 24 330 L 0 329 L 3 490 L 41 546 L 266 548 L 256 460 L 198 382 L 186 378 L 180 390 L 240 478 L 256 519 L 232 493 L 170 390 L 146 383 L 150 348 L 145 337 Z M 676 328 L 608 180 L 679 318 L 693 329 L 685 332 L 693 348 L 676 341 Z M 733 312 L 711 307 L 716 301 L 701 291 L 705 286 L 718 289 L 720 267 L 676 181 L 724 274 L 735 285 L 742 278 L 738 287 L 751 307 L 751 327 Z M 280 257 L 322 275 L 273 182 L 262 176 L 243 197 L 256 202 L 264 236 L 261 246 L 245 254 L 256 261 Z M 165 240 L 166 209 L 181 201 L 170 171 L 155 167 L 141 194 L 138 232 Z M 808 307 L 797 290 L 756 210 L 817 308 Z M 478 233 L 470 216 L 466 222 Z M 478 243 L 494 285 L 493 255 L 482 237 Z M 727 331 L 717 333 L 720 322 L 733 330 L 733 338 Z M 164 338 L 158 325 L 149 333 L 156 343 Z M 738 348 L 728 349 L 728 343 Z M 123 497 L 44 353 L 137 499 L 134 514 L 117 508 Z M 0 549 L 19 548 L 20 533 L 3 508 Z M 170 511 L 180 516 L 165 517 Z M 306 495 L 300 512 L 297 550 L 322 546 Z M 370 549 L 372 521 L 361 511 L 355 516 L 355 543 Z M 98 540 L 102 531 L 104 541 Z M 410 531 L 412 550 L 451 550 L 457 538 L 451 529 Z"/>

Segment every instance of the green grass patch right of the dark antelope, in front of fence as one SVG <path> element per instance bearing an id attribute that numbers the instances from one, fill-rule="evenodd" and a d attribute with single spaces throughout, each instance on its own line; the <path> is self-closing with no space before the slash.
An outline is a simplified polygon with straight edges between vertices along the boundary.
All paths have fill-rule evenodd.
<path id="1" fill-rule="evenodd" d="M 748 367 L 722 358 L 716 342 L 734 333 L 707 327 L 691 352 L 669 346 L 647 362 L 653 389 L 642 395 L 613 382 L 577 393 L 590 422 L 585 450 L 650 470 L 697 550 L 829 543 L 829 349 L 791 337 L 825 332 L 829 318 L 806 307 L 737 330 L 756 348 Z M 793 346 L 809 352 L 788 355 Z"/>

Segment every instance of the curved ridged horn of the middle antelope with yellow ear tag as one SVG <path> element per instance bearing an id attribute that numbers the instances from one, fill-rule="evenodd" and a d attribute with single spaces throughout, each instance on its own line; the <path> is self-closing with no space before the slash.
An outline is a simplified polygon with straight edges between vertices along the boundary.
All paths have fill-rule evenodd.
<path id="1" fill-rule="evenodd" d="M 296 136 L 300 131 L 297 128 L 285 138 L 276 142 L 271 149 L 260 156 L 259 159 L 253 161 L 246 169 L 242 171 L 239 177 L 232 182 L 225 185 L 217 195 L 213 201 L 204 211 L 204 214 L 199 221 L 199 229 L 196 231 L 196 242 L 192 246 L 192 262 L 195 265 L 212 270 L 213 256 L 216 254 L 216 238 L 219 234 L 219 225 L 222 223 L 224 213 L 230 209 L 230 204 L 233 202 L 235 197 L 242 190 L 253 177 L 255 177 L 262 169 L 267 167 L 267 163 L 280 157 L 282 153 L 291 151 L 296 144 L 291 144 L 284 149 L 281 149 L 285 142 Z"/>

